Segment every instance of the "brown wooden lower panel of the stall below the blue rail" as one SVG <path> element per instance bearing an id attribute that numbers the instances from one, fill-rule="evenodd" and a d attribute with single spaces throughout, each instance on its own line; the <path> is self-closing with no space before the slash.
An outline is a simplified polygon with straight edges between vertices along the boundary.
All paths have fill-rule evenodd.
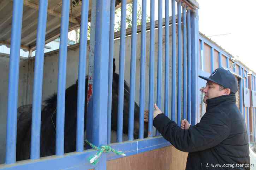
<path id="1" fill-rule="evenodd" d="M 107 170 L 184 170 L 186 168 L 187 153 L 167 146 L 137 155 L 110 160 Z"/>

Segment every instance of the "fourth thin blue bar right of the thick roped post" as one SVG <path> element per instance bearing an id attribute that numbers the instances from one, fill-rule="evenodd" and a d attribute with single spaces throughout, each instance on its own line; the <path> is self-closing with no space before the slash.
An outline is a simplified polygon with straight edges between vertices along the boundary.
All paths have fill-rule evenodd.
<path id="1" fill-rule="evenodd" d="M 145 64 L 146 64 L 146 8 L 147 0 L 142 0 L 141 25 L 141 73 L 139 83 L 139 139 L 144 138 L 144 108 L 145 108 Z"/>

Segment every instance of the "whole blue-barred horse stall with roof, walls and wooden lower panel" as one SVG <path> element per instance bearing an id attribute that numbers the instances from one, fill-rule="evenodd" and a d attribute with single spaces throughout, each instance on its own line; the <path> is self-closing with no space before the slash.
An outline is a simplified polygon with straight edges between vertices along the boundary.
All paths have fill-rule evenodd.
<path id="1" fill-rule="evenodd" d="M 155 21 L 155 1 L 151 0 L 150 4 L 147 4 L 148 1 L 142 0 L 142 24 L 137 25 L 138 1 L 133 0 L 130 38 L 127 33 L 129 29 L 126 29 L 126 4 L 130 1 L 122 0 L 119 4 L 121 5 L 121 31 L 119 33 L 114 33 L 113 29 L 114 10 L 118 7 L 117 1 L 89 2 L 89 0 L 83 0 L 78 2 L 79 5 L 75 6 L 75 10 L 71 2 L 69 0 L 58 2 L 4 0 L 1 2 L 2 6 L 12 8 L 12 10 L 9 9 L 12 12 L 12 18 L 6 17 L 6 20 L 12 20 L 12 24 L 11 27 L 4 24 L 0 27 L 0 29 L 5 29 L 0 36 L 1 44 L 11 46 L 7 114 L 3 113 L 7 117 L 5 163 L 0 165 L 0 169 L 153 169 L 159 167 L 160 164 L 165 167 L 184 168 L 186 153 L 177 151 L 168 141 L 159 136 L 159 133 L 153 131 L 153 103 L 156 102 L 162 111 L 178 124 L 182 118 L 187 118 L 192 125 L 197 122 L 199 110 L 197 2 L 165 0 L 165 19 L 163 19 L 163 1 L 159 0 L 158 21 Z M 150 23 L 146 23 L 147 5 L 150 5 Z M 177 8 L 177 13 L 175 13 L 175 8 Z M 169 17 L 169 11 L 172 13 L 171 17 Z M 88 20 L 91 24 L 91 34 L 87 42 Z M 67 33 L 77 27 L 81 30 L 80 43 L 67 48 Z M 117 34 L 120 38 L 115 36 Z M 47 55 L 44 54 L 44 44 L 58 36 L 60 36 L 60 49 Z M 128 40 L 131 46 L 129 55 L 126 53 L 129 47 Z M 115 45 L 116 42 L 119 46 Z M 118 49 L 115 49 L 117 46 Z M 29 50 L 30 53 L 36 50 L 36 56 L 26 59 L 29 70 L 26 72 L 25 89 L 27 92 L 22 94 L 26 102 L 18 105 L 20 48 Z M 74 58 L 70 56 L 75 55 L 76 50 L 79 51 L 76 59 L 78 62 L 74 68 L 70 69 L 69 63 L 74 61 Z M 115 51 L 119 52 L 118 57 L 114 56 Z M 54 55 L 56 60 L 50 59 L 49 56 Z M 113 80 L 116 78 L 112 74 L 113 58 L 118 62 L 118 87 L 116 88 L 113 88 Z M 130 66 L 128 80 L 125 78 L 127 77 L 127 58 L 129 58 L 128 65 Z M 58 71 L 51 68 L 49 65 L 52 63 L 48 62 L 58 65 Z M 52 69 L 54 73 L 51 72 Z M 73 70 L 76 76 L 72 77 L 70 70 L 71 72 Z M 44 139 L 40 137 L 43 131 L 41 118 L 44 113 L 42 110 L 46 109 L 42 106 L 42 99 L 45 95 L 43 88 L 54 87 L 53 85 L 46 86 L 48 80 L 45 78 L 55 73 L 57 93 L 56 108 L 53 113 L 56 113 L 56 120 L 53 124 L 56 125 L 56 129 L 52 134 L 55 140 L 53 146 L 55 155 L 42 157 L 40 153 Z M 136 76 L 138 74 L 139 77 Z M 66 89 L 70 83 L 66 84 L 66 82 L 69 82 L 70 77 L 78 78 L 77 94 L 73 94 L 77 96 L 75 99 L 77 100 L 76 120 L 74 120 L 76 131 L 73 132 L 76 134 L 76 140 L 75 150 L 67 153 L 65 150 L 68 145 L 65 143 L 66 124 L 72 120 L 66 119 L 66 109 L 69 106 L 66 97 L 70 95 Z M 87 81 L 88 86 L 85 86 Z M 117 103 L 112 103 L 113 89 L 118 91 Z M 32 97 L 29 97 L 29 94 Z M 125 98 L 127 94 L 128 98 Z M 139 103 L 138 114 L 135 112 L 136 97 Z M 127 99 L 129 99 L 128 120 L 124 119 L 127 112 L 124 105 Z M 30 157 L 27 160 L 16 161 L 17 121 L 20 121 L 19 117 L 17 119 L 19 116 L 17 109 L 23 104 L 32 104 L 31 125 L 29 125 L 31 127 Z M 111 115 L 115 104 L 118 106 L 117 119 L 113 120 Z M 148 124 L 144 124 L 143 121 L 145 109 L 149 110 Z M 135 122 L 136 117 L 138 117 L 137 122 Z M 117 125 L 115 127 L 117 143 L 111 143 L 112 121 L 116 121 Z M 124 141 L 125 129 L 123 127 L 126 125 L 128 139 Z M 87 141 L 95 145 L 93 149 L 84 148 L 85 128 Z M 134 138 L 135 128 L 138 128 L 137 139 Z M 148 132 L 146 137 L 144 136 L 145 129 Z M 108 152 L 113 151 L 109 147 L 114 149 L 114 153 Z M 108 153 L 97 153 L 95 148 Z M 156 158 L 155 155 L 162 155 L 162 158 Z M 88 162 L 89 158 L 92 158 L 91 163 Z M 141 161 L 145 164 L 142 165 Z"/>

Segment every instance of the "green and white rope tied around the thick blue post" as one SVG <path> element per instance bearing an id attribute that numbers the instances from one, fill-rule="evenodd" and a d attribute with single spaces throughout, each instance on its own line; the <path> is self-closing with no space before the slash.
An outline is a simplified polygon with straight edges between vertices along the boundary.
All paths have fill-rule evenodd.
<path id="1" fill-rule="evenodd" d="M 85 142 L 88 144 L 88 145 L 90 145 L 93 149 L 96 149 L 96 150 L 98 150 L 98 152 L 95 154 L 95 155 L 92 155 L 92 156 L 90 156 L 89 158 L 88 158 L 88 160 L 89 160 L 89 162 L 91 163 L 91 164 L 96 164 L 96 163 L 98 163 L 99 162 L 99 158 L 100 158 L 100 156 L 101 156 L 101 154 L 103 153 L 103 152 L 114 152 L 115 154 L 117 154 L 117 155 L 121 155 L 121 156 L 126 156 L 125 155 L 125 153 L 124 152 L 122 152 L 122 151 L 117 151 L 117 150 L 114 150 L 114 149 L 112 149 L 110 146 L 107 146 L 107 145 L 102 145 L 101 147 L 97 147 L 97 146 L 95 146 L 94 144 L 92 144 L 92 143 L 90 143 L 88 140 L 85 140 Z"/>

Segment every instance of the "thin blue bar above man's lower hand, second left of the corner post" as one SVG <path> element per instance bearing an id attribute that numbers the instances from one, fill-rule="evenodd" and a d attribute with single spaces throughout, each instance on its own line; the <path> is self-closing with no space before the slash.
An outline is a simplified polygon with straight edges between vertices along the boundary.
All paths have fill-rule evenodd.
<path id="1" fill-rule="evenodd" d="M 183 6 L 183 119 L 187 119 L 187 25 L 186 5 Z"/>

